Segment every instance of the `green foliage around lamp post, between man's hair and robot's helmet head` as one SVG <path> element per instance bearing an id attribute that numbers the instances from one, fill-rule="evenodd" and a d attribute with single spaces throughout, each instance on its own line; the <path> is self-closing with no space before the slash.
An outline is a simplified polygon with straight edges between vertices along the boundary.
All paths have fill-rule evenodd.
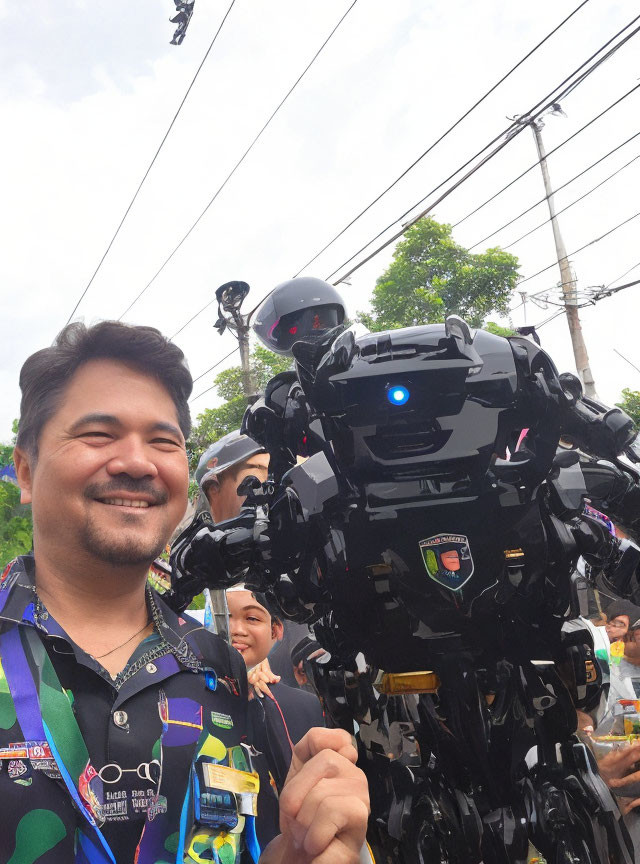
<path id="1" fill-rule="evenodd" d="M 251 353 L 250 359 L 253 380 L 259 391 L 264 390 L 269 380 L 278 372 L 290 369 L 292 362 L 289 357 L 280 357 L 260 345 Z M 195 471 L 200 456 L 210 444 L 240 427 L 247 407 L 240 366 L 220 372 L 213 379 L 213 384 L 220 399 L 225 401 L 218 408 L 207 408 L 196 418 L 188 442 L 189 465 L 192 471 Z"/>

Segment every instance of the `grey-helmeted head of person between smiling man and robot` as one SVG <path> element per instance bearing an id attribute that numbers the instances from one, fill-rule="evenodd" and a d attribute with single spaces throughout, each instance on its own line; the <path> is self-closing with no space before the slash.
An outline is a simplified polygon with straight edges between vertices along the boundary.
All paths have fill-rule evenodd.
<path id="1" fill-rule="evenodd" d="M 209 504 L 214 522 L 233 519 L 240 513 L 244 498 L 238 486 L 245 477 L 266 482 L 269 454 L 248 435 L 236 429 L 213 443 L 200 457 L 196 482 Z"/>

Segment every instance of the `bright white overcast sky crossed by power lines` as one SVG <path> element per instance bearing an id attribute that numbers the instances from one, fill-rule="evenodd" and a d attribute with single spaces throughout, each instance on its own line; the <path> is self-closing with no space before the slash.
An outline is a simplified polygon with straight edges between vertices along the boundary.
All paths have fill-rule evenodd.
<path id="1" fill-rule="evenodd" d="M 236 0 L 185 107 L 77 317 L 117 318 L 200 214 L 351 0 Z M 193 234 L 125 320 L 172 335 L 229 279 L 257 302 L 394 180 L 579 0 L 359 0 Z M 180 47 L 168 0 L 0 0 L 3 297 L 0 440 L 18 415 L 19 369 L 64 325 L 95 270 L 228 6 L 196 0 Z M 637 13 L 590 0 L 306 273 L 326 277 L 387 224 L 559 84 Z M 547 150 L 640 84 L 640 35 L 549 117 Z M 554 186 L 638 131 L 640 90 L 553 154 Z M 640 154 L 640 137 L 557 195 L 562 208 Z M 525 130 L 434 216 L 455 223 L 536 158 Z M 640 159 L 560 217 L 572 252 L 640 210 Z M 543 194 L 538 169 L 455 229 L 470 246 Z M 543 206 L 478 247 L 506 246 L 547 217 Z M 640 217 L 572 257 L 581 288 L 640 264 Z M 510 248 L 523 278 L 555 257 L 550 226 Z M 345 286 L 367 307 L 391 250 Z M 552 289 L 557 268 L 522 286 Z M 628 281 L 640 278 L 640 266 Z M 640 389 L 640 286 L 581 311 L 600 396 Z M 514 297 L 513 305 L 520 302 Z M 529 302 L 528 323 L 555 307 Z M 213 308 L 177 337 L 195 376 L 233 347 Z M 512 316 L 523 323 L 523 307 Z M 573 369 L 564 316 L 541 329 Z M 226 365 L 233 363 L 229 360 Z M 220 367 L 224 368 L 224 367 Z M 219 370 L 216 370 L 219 371 Z M 196 384 L 199 393 L 212 373 Z M 194 415 L 216 404 L 212 392 Z"/>

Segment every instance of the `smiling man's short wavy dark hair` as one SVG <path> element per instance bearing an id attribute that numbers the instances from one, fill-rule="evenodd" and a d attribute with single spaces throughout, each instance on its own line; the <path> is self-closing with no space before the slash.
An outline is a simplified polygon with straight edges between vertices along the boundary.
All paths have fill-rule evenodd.
<path id="1" fill-rule="evenodd" d="M 117 360 L 157 379 L 166 387 L 185 439 L 191 431 L 187 400 L 193 389 L 184 354 L 154 327 L 101 321 L 86 327 L 76 321 L 58 333 L 49 348 L 36 351 L 20 370 L 20 423 L 16 445 L 38 453 L 42 428 L 56 412 L 74 373 L 89 360 Z"/>

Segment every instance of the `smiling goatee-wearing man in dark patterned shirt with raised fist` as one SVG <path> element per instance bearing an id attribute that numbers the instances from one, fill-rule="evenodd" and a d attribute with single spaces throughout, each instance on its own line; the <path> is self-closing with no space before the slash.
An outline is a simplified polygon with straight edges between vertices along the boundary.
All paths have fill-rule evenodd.
<path id="1" fill-rule="evenodd" d="M 147 586 L 186 505 L 182 352 L 73 324 L 20 386 L 34 555 L 0 585 L 0 860 L 356 862 L 366 783 L 336 730 L 297 746 L 260 854 L 244 663 Z"/>

